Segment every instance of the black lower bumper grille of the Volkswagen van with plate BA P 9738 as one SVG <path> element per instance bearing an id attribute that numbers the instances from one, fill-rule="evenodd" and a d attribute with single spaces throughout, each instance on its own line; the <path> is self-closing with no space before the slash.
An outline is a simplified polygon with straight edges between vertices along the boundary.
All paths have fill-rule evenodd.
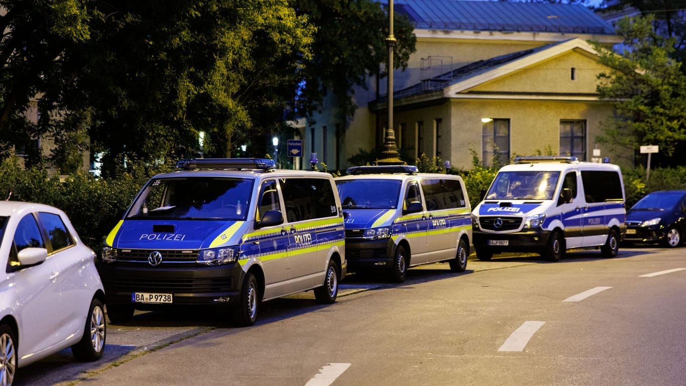
<path id="1" fill-rule="evenodd" d="M 211 279 L 152 278 L 129 279 L 117 277 L 105 282 L 107 291 L 152 293 L 222 293 L 231 291 L 231 277 Z"/>

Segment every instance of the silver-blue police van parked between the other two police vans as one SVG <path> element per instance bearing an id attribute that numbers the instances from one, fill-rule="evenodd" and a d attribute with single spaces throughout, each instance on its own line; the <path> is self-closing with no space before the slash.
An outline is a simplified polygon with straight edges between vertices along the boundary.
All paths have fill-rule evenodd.
<path id="1" fill-rule="evenodd" d="M 335 179 L 345 218 L 349 271 L 385 271 L 449 262 L 466 269 L 471 209 L 459 176 L 418 173 L 416 166 L 357 166 Z"/>

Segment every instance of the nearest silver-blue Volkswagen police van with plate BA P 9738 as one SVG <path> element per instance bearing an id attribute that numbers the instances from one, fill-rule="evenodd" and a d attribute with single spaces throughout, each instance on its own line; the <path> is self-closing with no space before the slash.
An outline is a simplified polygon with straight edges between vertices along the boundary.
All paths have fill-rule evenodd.
<path id="1" fill-rule="evenodd" d="M 107 236 L 98 270 L 115 323 L 134 309 L 233 308 L 314 290 L 335 302 L 346 274 L 340 200 L 330 174 L 271 159 L 192 159 L 148 181 Z"/>

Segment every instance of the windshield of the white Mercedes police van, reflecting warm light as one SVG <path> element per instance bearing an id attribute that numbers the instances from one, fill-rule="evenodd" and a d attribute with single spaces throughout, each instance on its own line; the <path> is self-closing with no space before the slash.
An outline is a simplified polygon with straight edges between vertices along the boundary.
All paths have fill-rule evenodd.
<path id="1" fill-rule="evenodd" d="M 560 172 L 499 172 L 486 194 L 488 200 L 552 200 Z"/>

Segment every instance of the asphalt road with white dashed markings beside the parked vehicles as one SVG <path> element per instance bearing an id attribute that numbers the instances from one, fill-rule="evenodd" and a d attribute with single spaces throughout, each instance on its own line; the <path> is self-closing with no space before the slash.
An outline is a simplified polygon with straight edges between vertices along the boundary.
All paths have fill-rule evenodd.
<path id="1" fill-rule="evenodd" d="M 681 385 L 685 251 L 431 264 L 401 285 L 353 275 L 335 304 L 266 302 L 250 328 L 141 313 L 108 325 L 101 361 L 65 350 L 16 385 Z"/>

